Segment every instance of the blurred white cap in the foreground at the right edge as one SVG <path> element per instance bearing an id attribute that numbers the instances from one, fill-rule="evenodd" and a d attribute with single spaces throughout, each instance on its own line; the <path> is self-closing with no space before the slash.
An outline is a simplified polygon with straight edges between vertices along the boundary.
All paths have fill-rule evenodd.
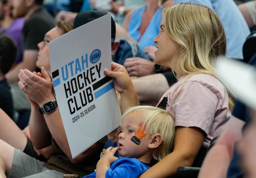
<path id="1" fill-rule="evenodd" d="M 218 57 L 215 67 L 237 98 L 256 109 L 256 67 L 227 57 Z"/>

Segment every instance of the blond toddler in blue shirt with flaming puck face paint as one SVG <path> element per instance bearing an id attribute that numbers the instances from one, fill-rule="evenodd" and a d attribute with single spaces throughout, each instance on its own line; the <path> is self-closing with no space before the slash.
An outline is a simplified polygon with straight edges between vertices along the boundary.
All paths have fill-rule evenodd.
<path id="1" fill-rule="evenodd" d="M 92 177 L 139 177 L 150 162 L 163 159 L 173 148 L 174 119 L 163 109 L 136 106 L 125 111 L 118 146 L 106 149 Z M 119 151 L 121 158 L 114 156 Z"/>

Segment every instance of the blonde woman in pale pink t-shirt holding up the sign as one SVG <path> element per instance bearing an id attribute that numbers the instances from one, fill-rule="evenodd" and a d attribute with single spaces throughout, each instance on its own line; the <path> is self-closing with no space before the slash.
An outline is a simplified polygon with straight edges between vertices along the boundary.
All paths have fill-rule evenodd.
<path id="1" fill-rule="evenodd" d="M 212 64 L 226 54 L 225 32 L 217 14 L 203 5 L 184 3 L 163 12 L 162 31 L 154 39 L 154 62 L 170 67 L 178 82 L 161 97 L 158 107 L 175 118 L 174 150 L 141 177 L 169 177 L 178 166 L 200 166 L 210 141 L 231 116 L 233 95 L 218 80 Z M 137 105 L 137 96 L 123 66 L 112 63 L 122 108 Z"/>

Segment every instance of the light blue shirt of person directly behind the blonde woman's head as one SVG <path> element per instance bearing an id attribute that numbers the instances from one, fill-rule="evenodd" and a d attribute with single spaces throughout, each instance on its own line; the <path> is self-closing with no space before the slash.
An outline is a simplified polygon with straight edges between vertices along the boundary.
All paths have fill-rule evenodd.
<path id="1" fill-rule="evenodd" d="M 217 13 L 226 34 L 226 56 L 242 59 L 242 47 L 250 30 L 236 3 L 233 0 L 174 0 L 173 5 L 189 1 L 210 7 Z"/>

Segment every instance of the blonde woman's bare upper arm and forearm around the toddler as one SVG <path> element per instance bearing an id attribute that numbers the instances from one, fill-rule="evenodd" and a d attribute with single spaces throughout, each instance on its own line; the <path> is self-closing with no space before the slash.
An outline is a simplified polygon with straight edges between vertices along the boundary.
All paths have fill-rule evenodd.
<path id="1" fill-rule="evenodd" d="M 191 166 L 205 136 L 197 127 L 177 127 L 173 152 L 148 169 L 140 178 L 170 177 L 176 174 L 179 166 Z"/>

